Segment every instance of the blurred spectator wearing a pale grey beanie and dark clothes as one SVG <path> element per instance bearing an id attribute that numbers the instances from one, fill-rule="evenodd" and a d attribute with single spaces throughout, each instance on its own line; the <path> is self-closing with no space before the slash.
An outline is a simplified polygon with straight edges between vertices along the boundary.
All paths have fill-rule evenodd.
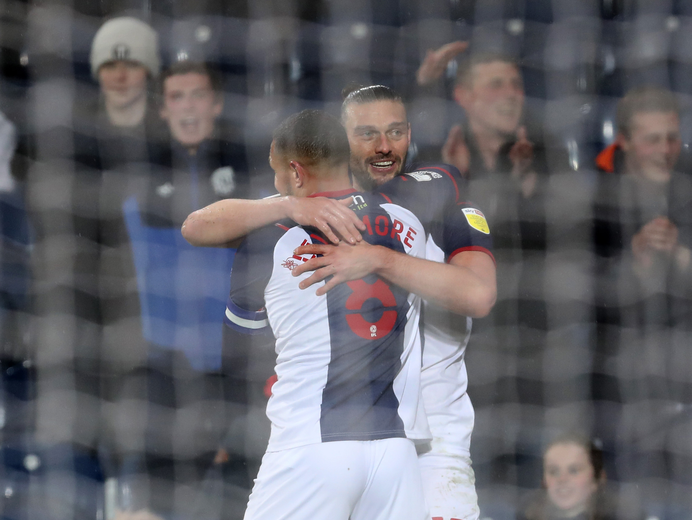
<path id="1" fill-rule="evenodd" d="M 28 138 L 42 164 L 28 179 L 37 439 L 65 460 L 72 454 L 99 463 L 105 478 L 120 478 L 121 461 L 143 445 L 145 424 L 127 409 L 128 399 L 146 400 L 145 382 L 132 376 L 145 370 L 146 345 L 137 288 L 128 285 L 136 278 L 122 203 L 140 191 L 152 147 L 161 143 L 163 125 L 149 96 L 158 69 L 151 27 L 129 17 L 107 21 L 91 48 L 98 99 L 78 98 L 71 120 Z M 56 328 L 56 319 L 66 325 Z M 46 496 L 78 508 L 83 492 L 54 490 L 53 471 L 62 469 L 44 467 Z"/>

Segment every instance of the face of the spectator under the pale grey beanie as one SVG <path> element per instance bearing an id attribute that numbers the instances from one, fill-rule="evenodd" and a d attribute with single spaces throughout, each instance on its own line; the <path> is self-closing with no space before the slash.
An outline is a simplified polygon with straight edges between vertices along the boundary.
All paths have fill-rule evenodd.
<path id="1" fill-rule="evenodd" d="M 98 82 L 106 105 L 125 109 L 145 96 L 147 69 L 129 60 L 105 62 L 98 69 Z"/>

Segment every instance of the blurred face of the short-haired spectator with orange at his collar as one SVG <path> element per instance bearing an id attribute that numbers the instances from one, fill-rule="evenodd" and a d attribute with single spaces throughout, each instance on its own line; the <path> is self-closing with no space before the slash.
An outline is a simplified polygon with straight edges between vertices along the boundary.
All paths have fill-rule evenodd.
<path id="1" fill-rule="evenodd" d="M 620 137 L 628 169 L 652 181 L 668 181 L 682 149 L 680 118 L 674 111 L 632 115 L 630 137 Z"/>

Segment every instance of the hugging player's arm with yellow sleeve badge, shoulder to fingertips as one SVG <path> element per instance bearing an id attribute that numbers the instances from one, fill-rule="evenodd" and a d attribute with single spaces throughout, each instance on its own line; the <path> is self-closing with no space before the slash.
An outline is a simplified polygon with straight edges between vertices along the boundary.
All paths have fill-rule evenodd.
<path id="1" fill-rule="evenodd" d="M 453 166 L 422 165 L 380 188 L 382 195 L 401 201 L 424 222 L 444 222 L 437 228 L 444 234 L 439 242 L 448 263 L 365 243 L 339 247 L 309 244 L 296 253 L 321 256 L 293 271 L 294 276 L 314 271 L 302 280 L 301 289 L 333 276 L 318 289 L 318 295 L 324 294 L 340 283 L 374 273 L 457 314 L 486 316 L 497 296 L 490 232 L 480 211 L 459 203 L 461 181 Z"/>

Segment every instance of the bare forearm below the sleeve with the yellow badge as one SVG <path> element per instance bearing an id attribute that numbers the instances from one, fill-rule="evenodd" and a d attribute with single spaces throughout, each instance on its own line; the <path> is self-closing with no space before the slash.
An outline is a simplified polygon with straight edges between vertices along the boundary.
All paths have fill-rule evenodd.
<path id="1" fill-rule="evenodd" d="M 495 305 L 494 266 L 492 276 L 479 276 L 464 265 L 415 258 L 381 246 L 374 253 L 376 274 L 451 312 L 482 318 Z M 490 257 L 487 260 L 492 262 Z"/>

